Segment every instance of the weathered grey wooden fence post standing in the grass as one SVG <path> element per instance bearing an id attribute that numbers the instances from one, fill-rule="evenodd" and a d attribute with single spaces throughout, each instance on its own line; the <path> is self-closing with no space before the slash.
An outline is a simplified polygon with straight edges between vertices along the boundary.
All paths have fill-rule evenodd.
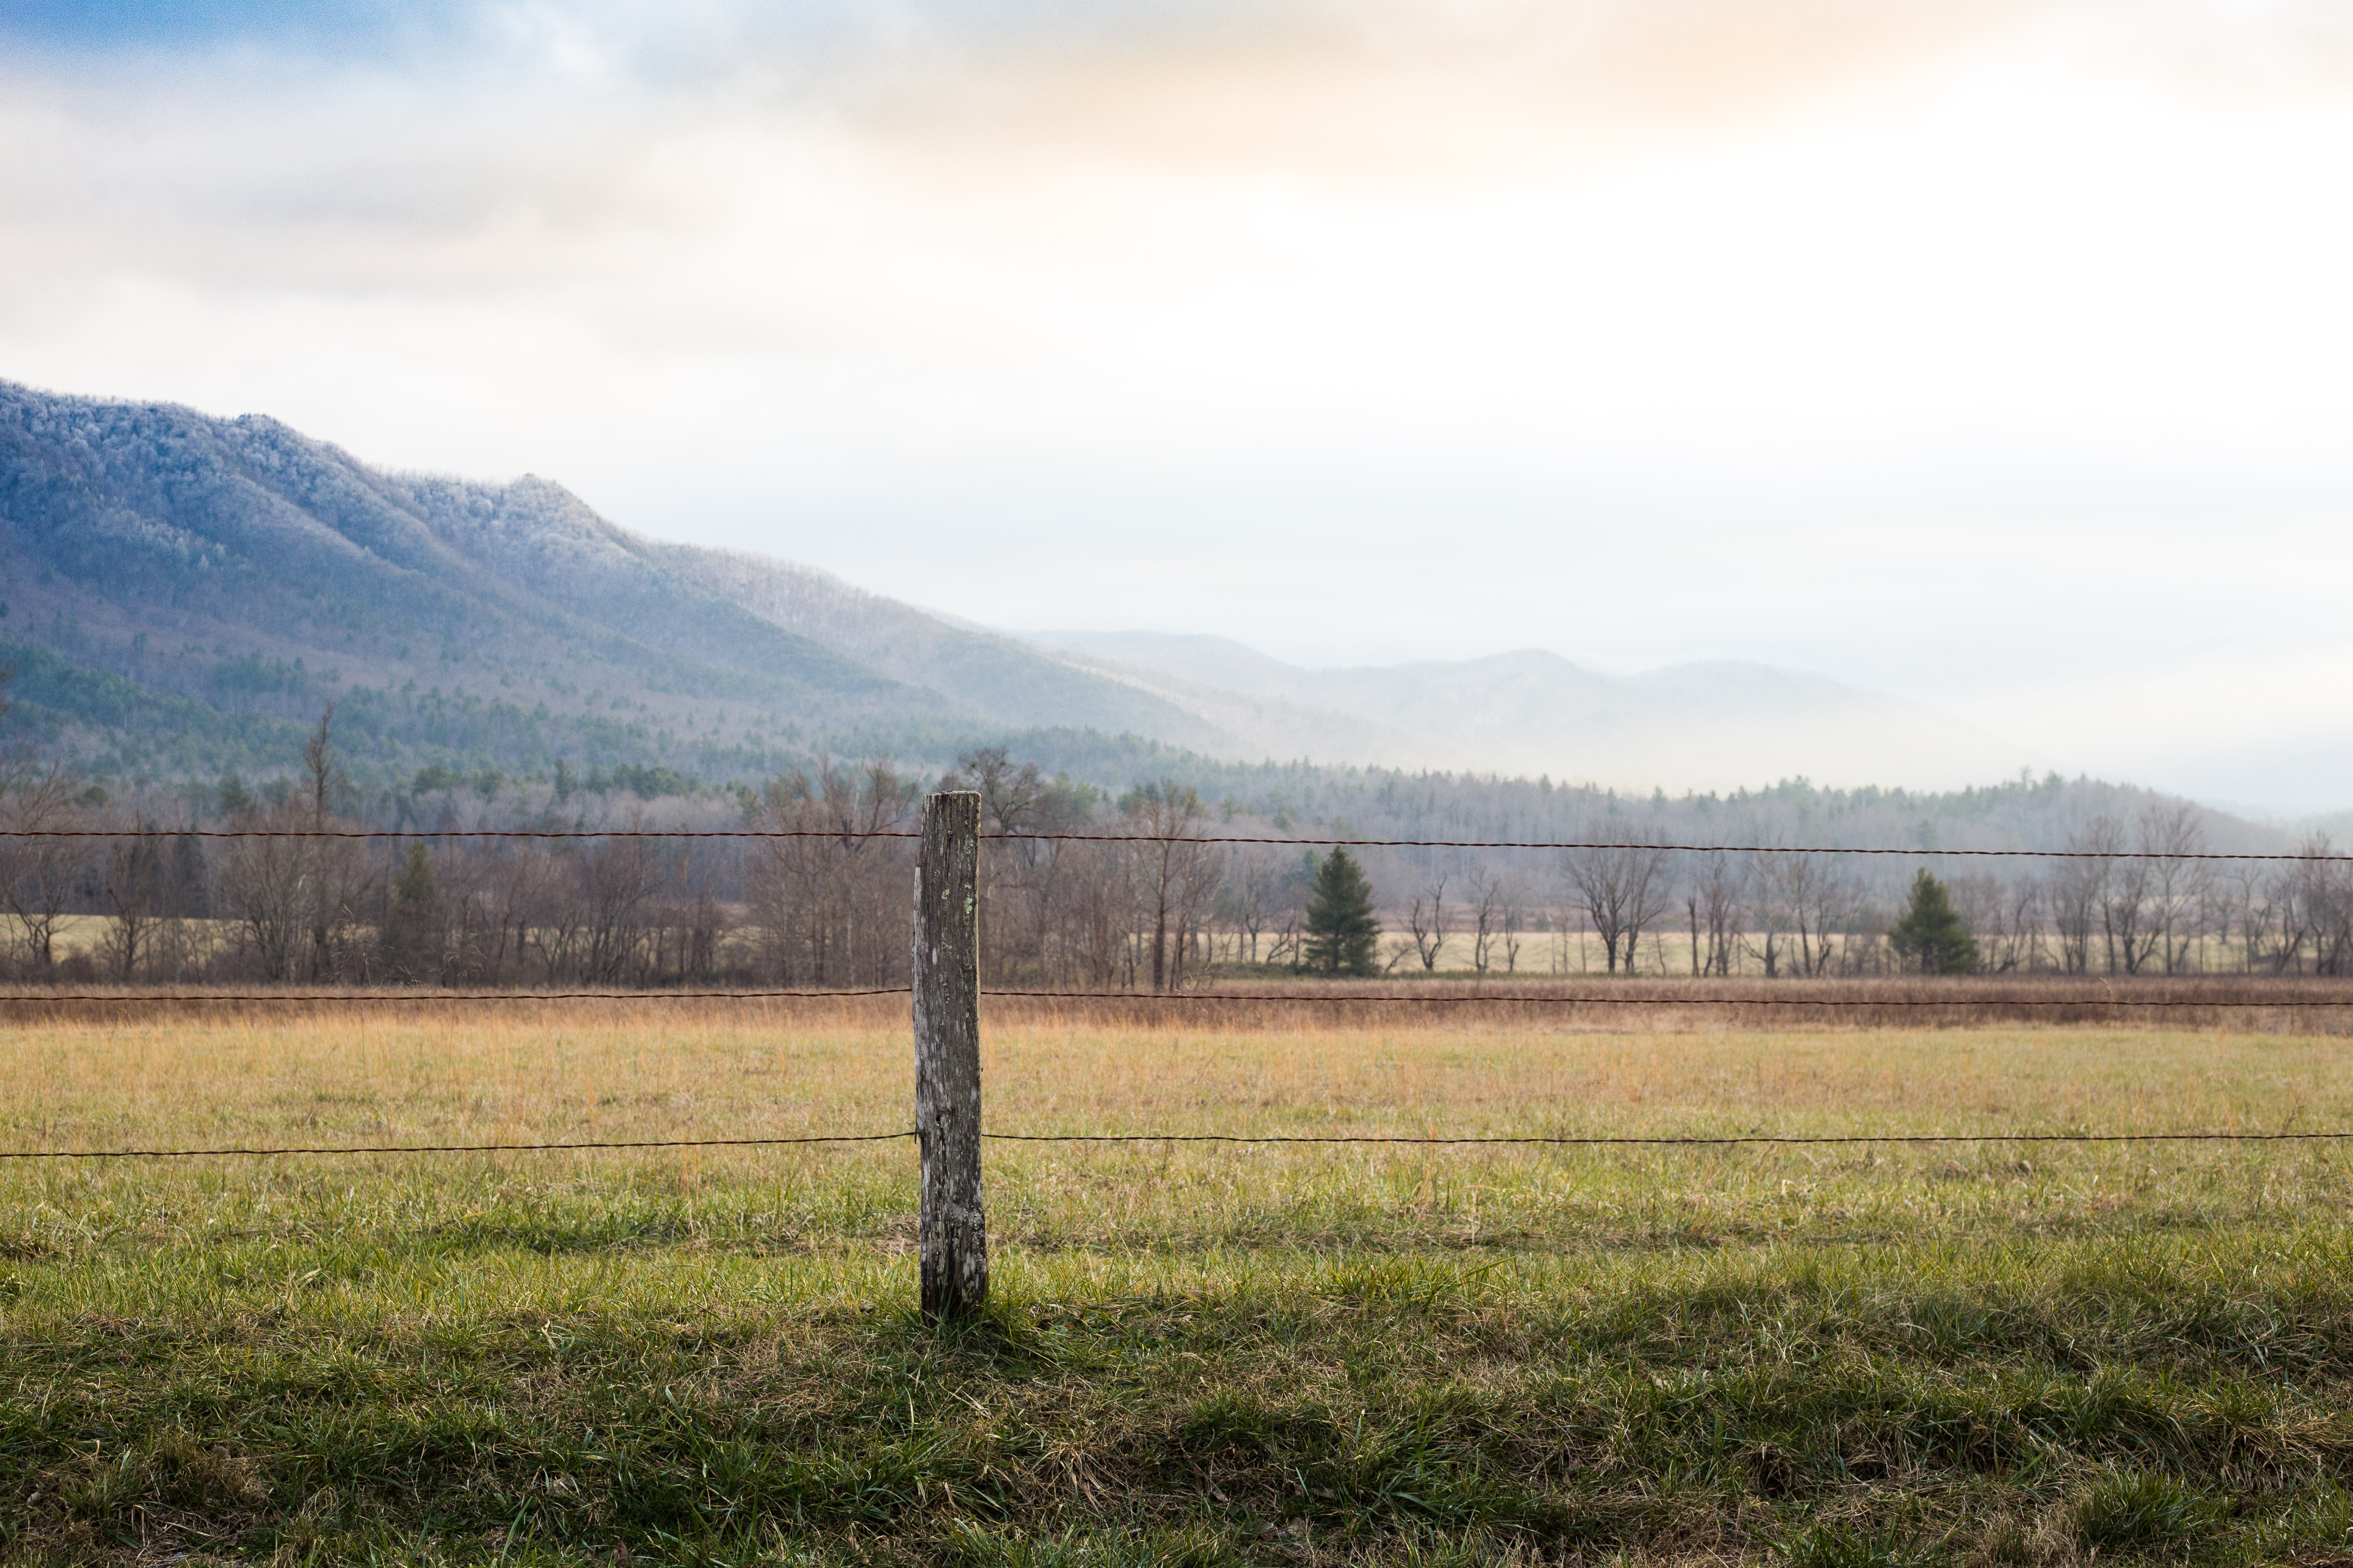
<path id="1" fill-rule="evenodd" d="M 915 858 L 915 1131 L 922 1140 L 922 1314 L 988 1300 L 981 1218 L 981 797 L 922 802 Z"/>

